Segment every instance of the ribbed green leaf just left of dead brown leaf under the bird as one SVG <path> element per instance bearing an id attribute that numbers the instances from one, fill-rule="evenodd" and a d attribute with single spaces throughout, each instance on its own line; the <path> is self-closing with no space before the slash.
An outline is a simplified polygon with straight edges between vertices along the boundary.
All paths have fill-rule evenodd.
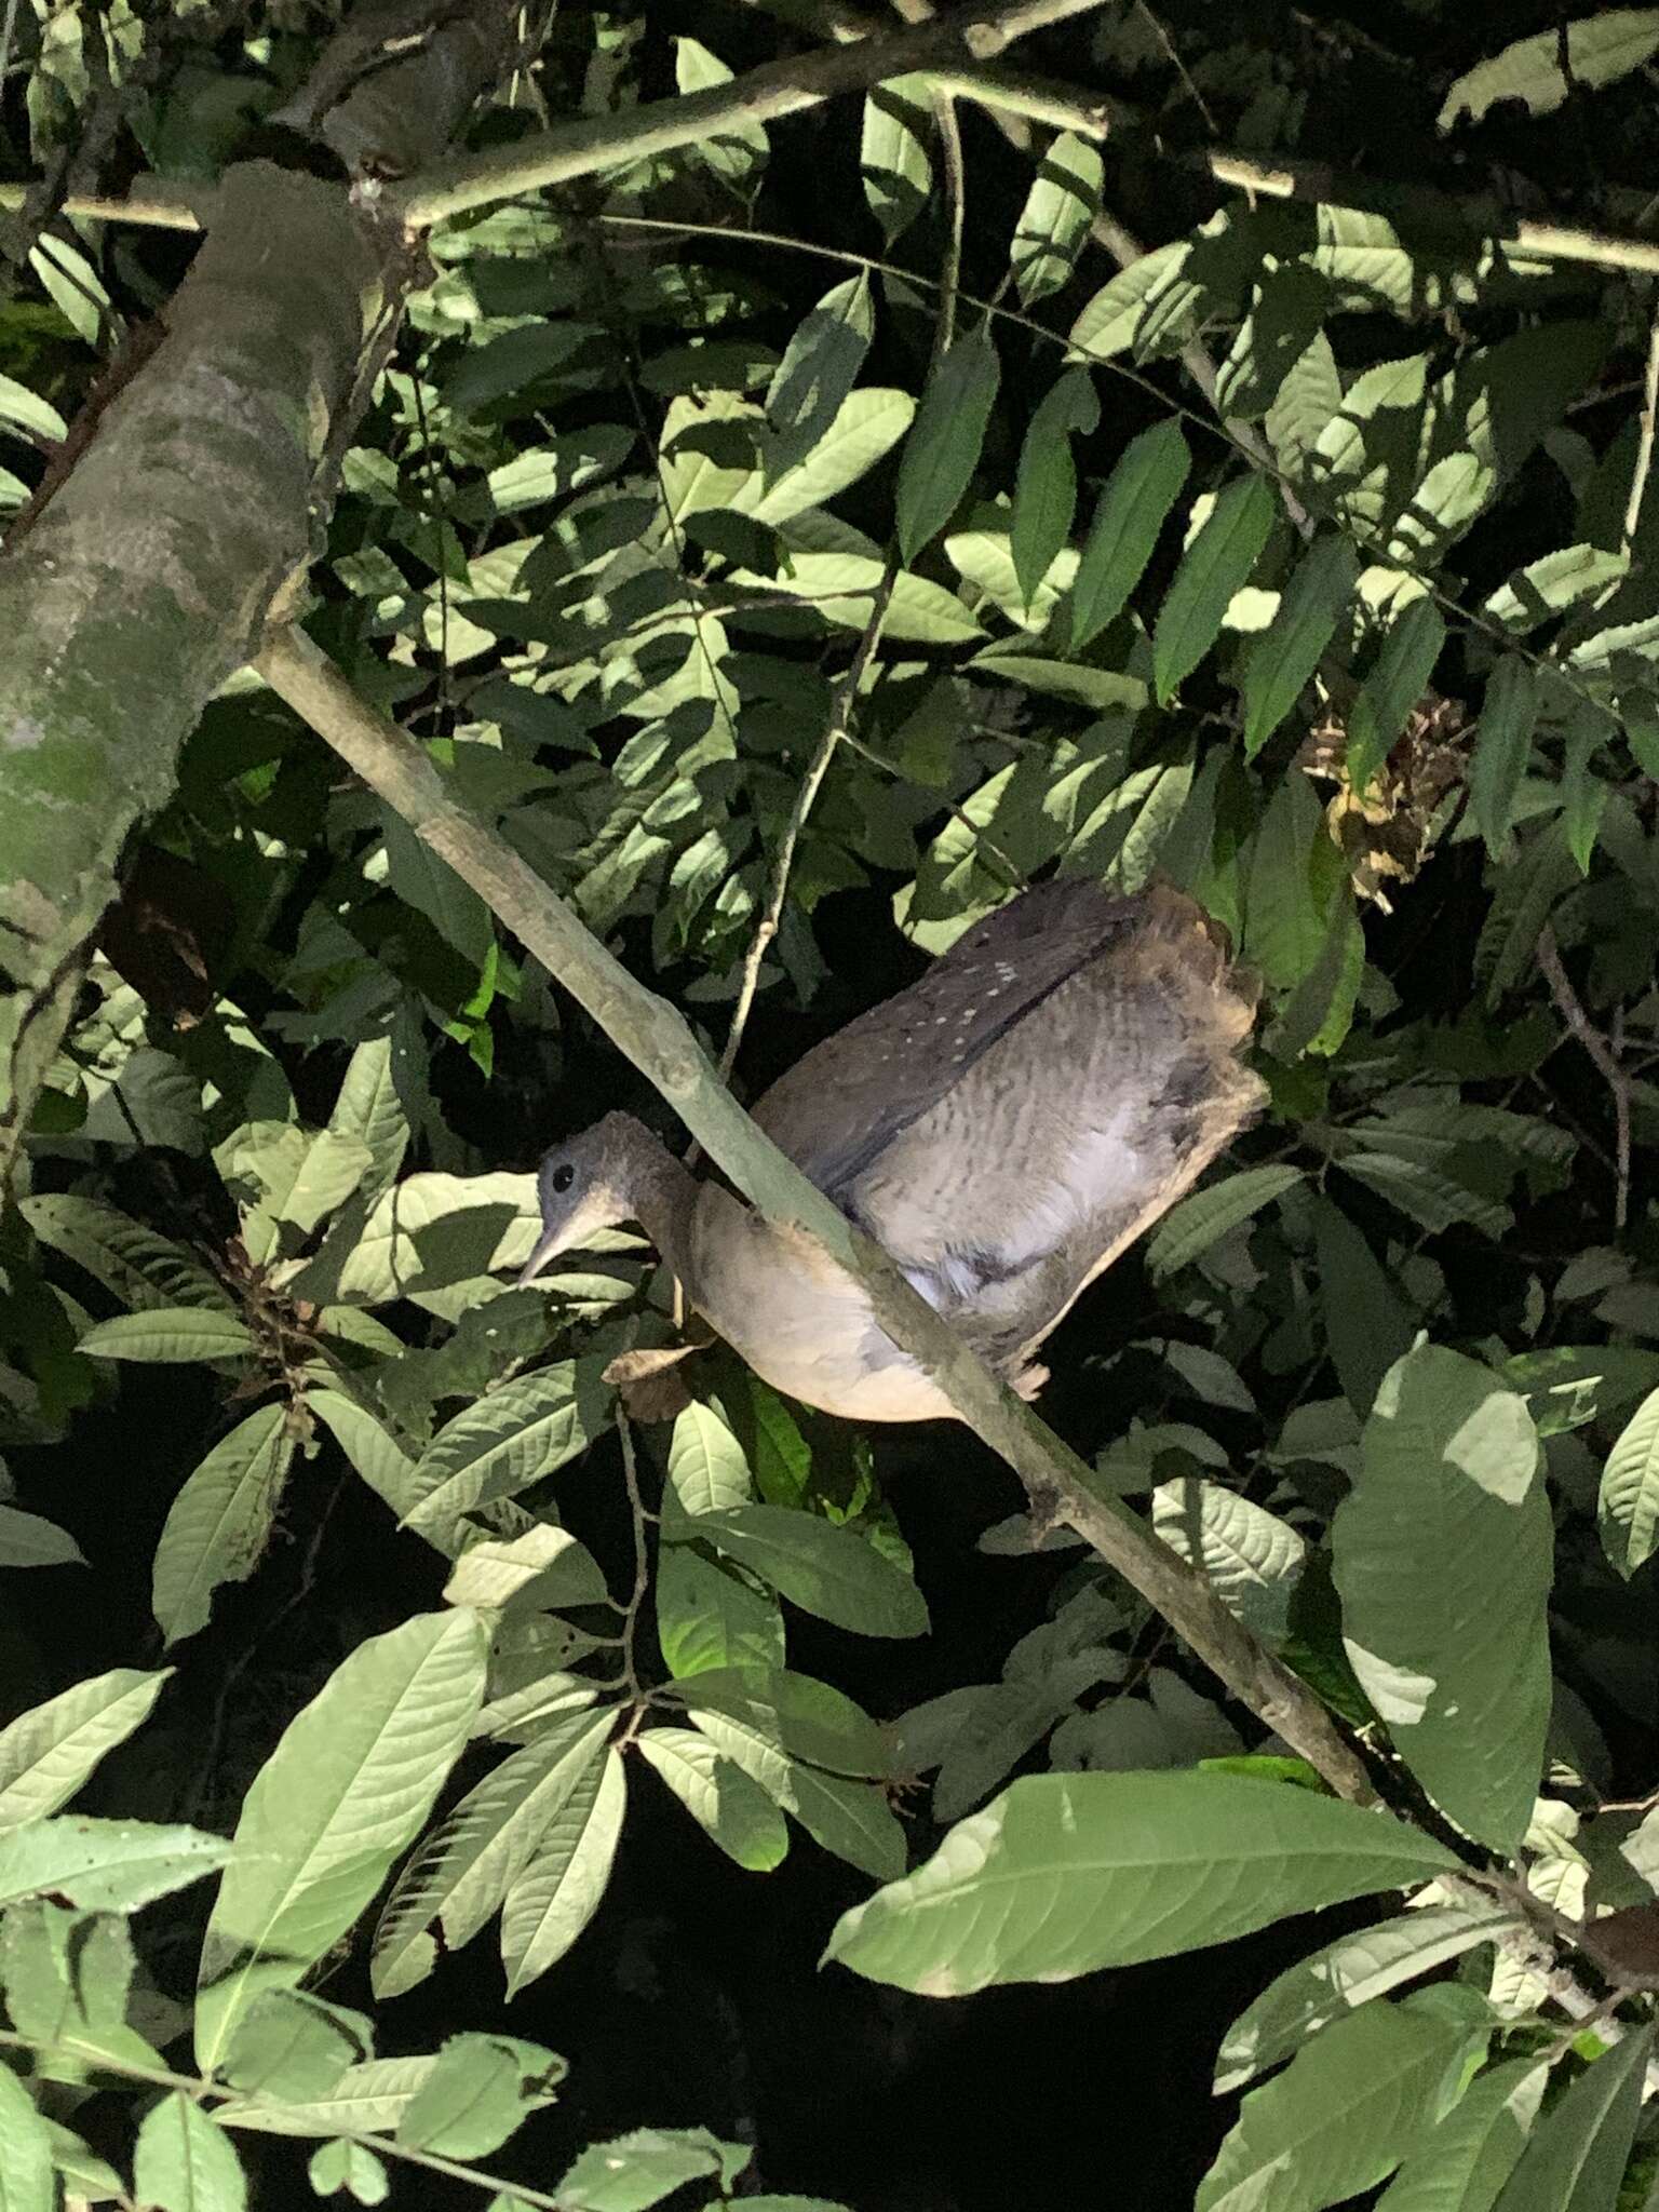
<path id="1" fill-rule="evenodd" d="M 422 1535 L 555 1473 L 604 1422 L 593 1360 L 555 1360 L 465 1407 L 416 1460 L 407 1522 Z"/>

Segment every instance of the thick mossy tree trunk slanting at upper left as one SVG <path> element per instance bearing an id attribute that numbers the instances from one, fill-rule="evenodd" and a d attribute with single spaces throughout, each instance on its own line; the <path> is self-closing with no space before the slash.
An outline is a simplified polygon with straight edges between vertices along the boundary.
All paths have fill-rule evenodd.
<path id="1" fill-rule="evenodd" d="M 407 93 L 405 153 L 442 148 L 513 13 L 434 0 L 431 38 L 372 77 L 376 102 Z M 367 128 L 358 93 L 345 108 Z M 418 279 L 400 226 L 343 184 L 243 161 L 212 206 L 161 343 L 0 557 L 0 1186 L 122 845 L 305 568 L 361 365 Z"/>

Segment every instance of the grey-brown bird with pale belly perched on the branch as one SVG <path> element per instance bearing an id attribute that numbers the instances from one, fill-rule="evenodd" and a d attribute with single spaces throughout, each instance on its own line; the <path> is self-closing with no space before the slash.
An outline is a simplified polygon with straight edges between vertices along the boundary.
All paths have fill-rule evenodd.
<path id="1" fill-rule="evenodd" d="M 1104 1267 L 1261 1110 L 1254 978 L 1168 883 L 1051 878 L 801 1057 L 759 1126 L 1022 1398 Z M 692 1307 L 774 1389 L 854 1422 L 956 1420 L 805 1232 L 765 1221 L 628 1113 L 538 1168 L 518 1281 L 635 1221 Z"/>

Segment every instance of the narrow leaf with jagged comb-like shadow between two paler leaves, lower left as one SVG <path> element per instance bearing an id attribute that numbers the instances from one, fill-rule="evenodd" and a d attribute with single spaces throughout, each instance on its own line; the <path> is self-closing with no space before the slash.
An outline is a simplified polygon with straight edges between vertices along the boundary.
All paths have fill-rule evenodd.
<path id="1" fill-rule="evenodd" d="M 374 1931 L 376 1997 L 400 1997 L 471 1942 L 529 1867 L 571 1796 L 597 1778 L 615 1712 L 573 1712 L 504 1759 L 422 1840 Z"/>

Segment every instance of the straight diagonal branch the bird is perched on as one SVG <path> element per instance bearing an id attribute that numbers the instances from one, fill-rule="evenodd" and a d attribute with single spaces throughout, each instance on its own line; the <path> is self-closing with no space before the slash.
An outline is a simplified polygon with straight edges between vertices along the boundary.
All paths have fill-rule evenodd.
<path id="1" fill-rule="evenodd" d="M 686 1020 L 637 982 L 495 830 L 465 807 L 431 759 L 374 708 L 301 630 L 272 637 L 254 664 L 409 827 L 460 874 L 513 936 L 593 1015 L 675 1108 L 752 1206 L 814 1237 L 869 1296 L 883 1329 L 925 1369 L 969 1429 L 1029 1491 L 1091 1544 L 1192 1646 L 1225 1688 L 1325 1776 L 1338 1796 L 1374 1803 L 1363 1761 L 1318 1699 L 1219 1604 L 1208 1582 L 1119 1498 L 918 1296 L 779 1152 L 726 1091 Z"/>

